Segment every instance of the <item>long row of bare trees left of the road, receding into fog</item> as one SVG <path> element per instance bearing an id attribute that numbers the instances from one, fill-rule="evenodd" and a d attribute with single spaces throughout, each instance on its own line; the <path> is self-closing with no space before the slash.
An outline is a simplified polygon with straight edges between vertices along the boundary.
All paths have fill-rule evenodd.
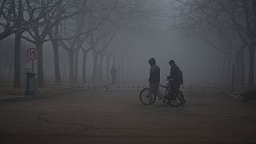
<path id="1" fill-rule="evenodd" d="M 148 9 L 148 2 L 134 0 L 1 0 L 0 6 L 0 40 L 10 35 L 15 38 L 14 88 L 21 87 L 21 39 L 38 49 L 38 86 L 45 84 L 42 59 L 45 42 L 51 42 L 53 47 L 55 82 L 62 82 L 60 47 L 68 54 L 72 83 L 78 80 L 78 52 L 82 50 L 83 55 L 82 82 L 86 82 L 87 54 L 92 52 L 92 81 L 95 81 L 96 71 L 102 71 L 103 57 L 106 56 L 109 67 L 110 58 L 121 54 L 118 51 L 122 50 L 110 47 L 118 41 L 118 33 L 135 26 L 138 18 L 146 18 L 156 11 L 152 7 Z"/>

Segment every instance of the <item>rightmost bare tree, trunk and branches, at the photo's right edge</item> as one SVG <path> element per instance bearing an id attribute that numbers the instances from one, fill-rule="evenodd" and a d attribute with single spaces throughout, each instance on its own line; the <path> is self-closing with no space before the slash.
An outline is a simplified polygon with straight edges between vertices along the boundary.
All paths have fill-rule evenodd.
<path id="1" fill-rule="evenodd" d="M 248 85 L 254 86 L 254 59 L 256 48 L 256 2 L 253 0 L 218 1 L 233 22 L 239 38 L 249 50 Z"/>

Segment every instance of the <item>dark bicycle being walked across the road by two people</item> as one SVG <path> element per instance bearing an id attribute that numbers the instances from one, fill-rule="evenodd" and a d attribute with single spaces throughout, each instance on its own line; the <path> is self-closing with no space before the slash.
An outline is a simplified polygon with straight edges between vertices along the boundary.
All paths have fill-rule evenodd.
<path id="1" fill-rule="evenodd" d="M 159 86 L 161 86 L 162 88 L 165 89 L 165 94 L 164 97 L 167 99 L 167 104 L 170 106 L 181 106 L 183 103 L 186 103 L 185 99 L 184 99 L 184 95 L 182 94 L 181 90 L 174 90 L 171 89 L 170 87 L 170 81 L 172 79 L 167 78 L 167 85 L 163 86 L 161 84 L 159 84 Z M 148 106 L 149 105 L 149 87 L 144 88 L 140 94 L 139 94 L 139 98 L 140 101 L 142 102 L 143 105 Z M 156 94 L 153 94 L 153 103 L 155 102 L 156 99 Z M 159 98 L 160 100 L 160 98 Z"/>

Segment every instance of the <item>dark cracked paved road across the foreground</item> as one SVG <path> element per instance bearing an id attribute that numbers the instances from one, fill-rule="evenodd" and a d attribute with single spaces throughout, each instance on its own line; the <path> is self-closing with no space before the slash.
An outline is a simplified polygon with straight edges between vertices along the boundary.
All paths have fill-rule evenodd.
<path id="1" fill-rule="evenodd" d="M 0 143 L 256 142 L 256 106 L 222 94 L 142 106 L 138 91 L 80 91 L 0 103 Z"/>

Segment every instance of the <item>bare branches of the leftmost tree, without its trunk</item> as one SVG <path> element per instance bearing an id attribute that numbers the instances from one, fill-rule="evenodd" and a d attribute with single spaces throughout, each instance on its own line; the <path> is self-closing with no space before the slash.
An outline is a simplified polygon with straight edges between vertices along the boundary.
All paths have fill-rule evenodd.
<path id="1" fill-rule="evenodd" d="M 38 20 L 50 12 L 42 10 L 41 6 L 35 6 L 34 0 L 2 0 L 0 1 L 0 40 L 11 34 L 26 30 L 32 26 L 40 25 Z M 33 8 L 32 8 L 33 7 Z M 28 16 L 29 9 L 33 9 Z M 37 18 L 32 16 L 37 15 Z"/>

